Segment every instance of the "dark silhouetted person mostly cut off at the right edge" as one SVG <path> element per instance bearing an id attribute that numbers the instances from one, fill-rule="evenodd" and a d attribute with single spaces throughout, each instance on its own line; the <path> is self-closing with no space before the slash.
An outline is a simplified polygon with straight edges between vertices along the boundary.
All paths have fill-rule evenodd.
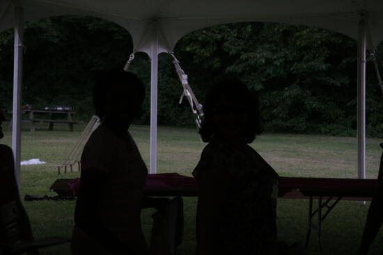
<path id="1" fill-rule="evenodd" d="M 380 144 L 383 148 L 383 143 Z M 377 190 L 371 201 L 370 208 L 368 208 L 368 215 L 366 219 L 366 225 L 364 227 L 364 233 L 361 238 L 361 245 L 359 247 L 359 255 L 366 255 L 368 249 L 370 249 L 373 240 L 377 236 L 380 227 L 383 224 L 383 152 L 380 158 L 379 174 L 377 176 Z M 383 239 L 382 239 L 383 242 Z M 383 247 L 382 252 L 383 254 Z"/>

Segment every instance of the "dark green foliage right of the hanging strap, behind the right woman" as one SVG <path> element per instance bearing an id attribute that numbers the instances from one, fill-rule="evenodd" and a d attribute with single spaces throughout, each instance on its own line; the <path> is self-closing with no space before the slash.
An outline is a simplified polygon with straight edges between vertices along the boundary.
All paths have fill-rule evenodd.
<path id="1" fill-rule="evenodd" d="M 187 35 L 178 47 L 200 68 L 193 69 L 196 76 L 203 69 L 211 78 L 233 74 L 256 90 L 266 131 L 356 132 L 357 45 L 344 35 L 287 24 L 230 24 Z M 383 97 L 370 63 L 367 75 L 367 131 L 382 136 Z"/>

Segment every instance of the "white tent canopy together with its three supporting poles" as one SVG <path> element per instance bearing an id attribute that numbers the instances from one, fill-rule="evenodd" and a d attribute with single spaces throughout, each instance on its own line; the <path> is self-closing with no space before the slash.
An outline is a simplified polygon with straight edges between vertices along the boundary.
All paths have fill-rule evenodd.
<path id="1" fill-rule="evenodd" d="M 359 177 L 364 178 L 366 28 L 374 45 L 383 40 L 382 0 L 1 0 L 0 31 L 14 27 L 20 35 L 15 37 L 13 149 L 16 170 L 19 170 L 23 17 L 33 20 L 58 15 L 91 15 L 115 22 L 132 35 L 134 51 L 150 56 L 150 172 L 156 169 L 157 56 L 173 51 L 182 36 L 217 24 L 283 22 L 327 28 L 358 40 L 358 171 Z"/>

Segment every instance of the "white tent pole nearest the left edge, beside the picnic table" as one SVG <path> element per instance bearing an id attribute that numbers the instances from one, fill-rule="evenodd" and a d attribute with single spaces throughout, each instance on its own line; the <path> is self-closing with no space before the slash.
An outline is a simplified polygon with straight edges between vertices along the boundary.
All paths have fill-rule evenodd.
<path id="1" fill-rule="evenodd" d="M 22 114 L 22 65 L 23 65 L 23 9 L 15 6 L 15 50 L 13 62 L 13 118 L 12 118 L 12 149 L 15 157 L 15 177 L 17 186 L 20 181 L 21 155 L 21 114 Z"/>

